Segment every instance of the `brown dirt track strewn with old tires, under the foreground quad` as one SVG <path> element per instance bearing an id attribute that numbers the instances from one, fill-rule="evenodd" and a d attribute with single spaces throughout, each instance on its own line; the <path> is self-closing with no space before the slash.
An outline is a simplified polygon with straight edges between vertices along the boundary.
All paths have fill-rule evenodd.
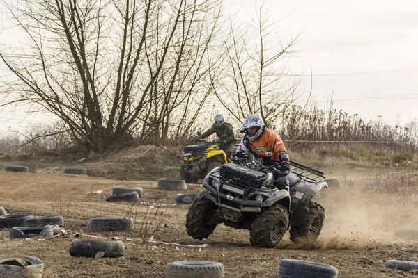
<path id="1" fill-rule="evenodd" d="M 380 174 L 364 174 L 359 170 L 332 172 L 333 177 L 341 179 L 341 188 L 330 188 L 318 196 L 317 202 L 323 204 L 326 215 L 318 247 L 315 250 L 295 247 L 286 234 L 277 248 L 269 250 L 251 247 L 249 231 L 236 231 L 223 225 L 219 225 L 208 240 L 193 240 L 184 227 L 187 205 L 151 208 L 144 204 L 132 207 L 104 201 L 113 186 L 130 184 L 144 188 L 143 202 L 173 204 L 180 192 L 157 190 L 157 178 L 155 181 L 116 181 L 62 174 L 61 170 L 49 171 L 51 174 L 1 170 L 0 206 L 9 214 L 62 215 L 66 229 L 107 237 L 128 236 L 134 241 L 124 241 L 125 256 L 118 259 L 73 258 L 68 253 L 73 237 L 10 240 L 9 231 L 1 230 L 1 256 L 36 256 L 45 263 L 44 277 L 164 277 L 166 263 L 185 260 L 218 261 L 224 264 L 226 277 L 277 277 L 277 265 L 283 258 L 334 265 L 339 269 L 339 277 L 417 277 L 418 274 L 416 270 L 389 269 L 384 264 L 389 259 L 418 261 L 418 239 L 405 241 L 393 234 L 395 229 L 406 225 L 417 227 L 418 221 L 417 199 L 413 194 L 398 190 L 387 195 L 389 193 L 378 187 L 365 194 L 357 191 L 359 185 L 382 182 L 384 177 Z M 416 188 L 414 190 L 416 193 Z M 201 186 L 190 184 L 186 192 L 200 191 Z M 125 215 L 135 221 L 134 230 L 128 234 L 99 234 L 88 229 L 90 218 Z M 150 224 L 150 220 L 146 220 L 148 216 L 156 216 L 156 222 L 161 222 L 157 231 L 153 225 L 144 227 L 144 223 Z M 210 247 L 142 243 L 140 236 L 148 238 L 153 231 L 154 240 L 194 245 L 208 243 Z M 91 238 L 82 236 L 81 239 Z"/>

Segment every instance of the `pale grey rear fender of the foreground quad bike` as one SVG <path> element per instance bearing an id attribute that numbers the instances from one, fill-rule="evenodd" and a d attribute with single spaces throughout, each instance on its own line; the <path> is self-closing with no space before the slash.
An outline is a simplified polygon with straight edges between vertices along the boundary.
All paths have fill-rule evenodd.
<path id="1" fill-rule="evenodd" d="M 296 186 L 291 188 L 292 204 L 308 206 L 309 202 L 311 202 L 311 199 L 314 198 L 316 193 L 318 193 L 324 187 L 328 187 L 328 183 L 326 181 L 313 183 L 302 180 L 300 183 L 297 183 Z"/>

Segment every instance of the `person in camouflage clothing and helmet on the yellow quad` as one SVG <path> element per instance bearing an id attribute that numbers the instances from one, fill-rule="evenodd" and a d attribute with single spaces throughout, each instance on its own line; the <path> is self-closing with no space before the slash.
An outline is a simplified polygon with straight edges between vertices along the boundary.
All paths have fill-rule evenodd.
<path id="1" fill-rule="evenodd" d="M 236 139 L 233 135 L 232 125 L 225 122 L 225 118 L 222 114 L 217 114 L 213 118 L 213 124 L 210 129 L 203 132 L 198 138 L 206 138 L 212 133 L 216 133 L 219 139 L 226 142 L 226 145 L 219 145 L 219 148 L 225 151 L 227 157 L 231 156 Z"/>

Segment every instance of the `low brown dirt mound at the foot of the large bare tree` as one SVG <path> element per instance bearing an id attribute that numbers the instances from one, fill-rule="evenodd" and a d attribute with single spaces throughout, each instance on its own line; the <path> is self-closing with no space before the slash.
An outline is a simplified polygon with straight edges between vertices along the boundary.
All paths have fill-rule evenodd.
<path id="1" fill-rule="evenodd" d="M 180 179 L 178 150 L 161 145 L 139 145 L 119 151 L 94 154 L 3 154 L 0 165 L 21 165 L 29 172 L 59 174 L 64 167 L 86 168 L 93 177 L 116 180 L 156 180 L 160 177 Z"/>

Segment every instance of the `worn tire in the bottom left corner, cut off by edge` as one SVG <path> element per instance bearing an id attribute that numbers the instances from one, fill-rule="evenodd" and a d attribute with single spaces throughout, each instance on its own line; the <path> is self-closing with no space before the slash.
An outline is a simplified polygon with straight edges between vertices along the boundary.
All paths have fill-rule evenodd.
<path id="1" fill-rule="evenodd" d="M 34 256 L 0 258 L 0 277 L 42 278 L 43 262 Z"/>

